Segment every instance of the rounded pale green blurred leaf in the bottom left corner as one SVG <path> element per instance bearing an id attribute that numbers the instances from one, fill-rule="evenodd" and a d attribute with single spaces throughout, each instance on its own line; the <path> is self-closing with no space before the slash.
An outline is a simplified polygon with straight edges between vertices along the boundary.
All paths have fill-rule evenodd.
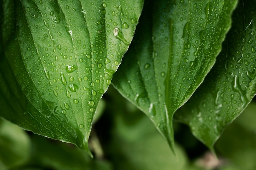
<path id="1" fill-rule="evenodd" d="M 0 118 L 0 169 L 20 166 L 30 157 L 30 140 L 25 130 Z"/>

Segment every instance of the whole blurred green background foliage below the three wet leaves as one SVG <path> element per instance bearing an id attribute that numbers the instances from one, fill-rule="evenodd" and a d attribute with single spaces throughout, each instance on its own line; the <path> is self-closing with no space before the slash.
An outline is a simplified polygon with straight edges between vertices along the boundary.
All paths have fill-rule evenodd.
<path id="1" fill-rule="evenodd" d="M 255 112 L 253 100 L 227 126 L 215 145 L 218 159 L 187 126 L 174 123 L 174 155 L 148 117 L 110 86 L 90 136 L 93 159 L 0 119 L 0 170 L 255 170 Z"/>

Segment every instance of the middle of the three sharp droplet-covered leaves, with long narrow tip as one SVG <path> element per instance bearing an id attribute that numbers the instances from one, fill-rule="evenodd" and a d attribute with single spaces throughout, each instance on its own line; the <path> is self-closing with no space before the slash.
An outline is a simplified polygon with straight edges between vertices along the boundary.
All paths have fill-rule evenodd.
<path id="1" fill-rule="evenodd" d="M 236 0 L 145 3 L 133 44 L 112 82 L 172 148 L 173 114 L 213 66 L 235 7 Z"/>

